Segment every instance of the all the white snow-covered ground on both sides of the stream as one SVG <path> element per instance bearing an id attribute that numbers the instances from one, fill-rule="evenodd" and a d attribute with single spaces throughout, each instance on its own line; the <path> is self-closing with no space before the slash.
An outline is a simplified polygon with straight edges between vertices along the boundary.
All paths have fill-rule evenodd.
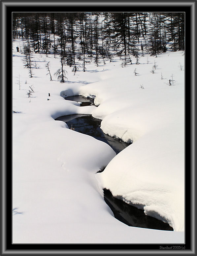
<path id="1" fill-rule="evenodd" d="M 37 69 L 30 78 L 19 45 L 13 42 L 13 209 L 23 214 L 13 215 L 13 243 L 184 243 L 183 52 L 144 56 L 124 68 L 118 58 L 99 67 L 92 62 L 75 76 L 66 66 L 62 84 L 53 76 L 58 56 L 32 54 Z M 62 97 L 73 95 L 95 97 L 98 107 Z M 54 120 L 69 114 L 92 114 L 106 134 L 133 144 L 116 156 Z M 119 222 L 103 188 L 175 231 Z"/>

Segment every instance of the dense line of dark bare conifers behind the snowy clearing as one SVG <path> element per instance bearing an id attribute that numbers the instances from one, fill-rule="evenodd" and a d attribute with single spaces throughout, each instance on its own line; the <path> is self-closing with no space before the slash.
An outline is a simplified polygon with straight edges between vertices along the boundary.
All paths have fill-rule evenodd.
<path id="1" fill-rule="evenodd" d="M 124 65 L 139 54 L 184 50 L 184 13 L 13 13 L 13 38 L 26 39 L 29 53 L 60 56 L 78 70 L 119 56 Z M 23 49 L 23 52 L 27 49 Z"/>

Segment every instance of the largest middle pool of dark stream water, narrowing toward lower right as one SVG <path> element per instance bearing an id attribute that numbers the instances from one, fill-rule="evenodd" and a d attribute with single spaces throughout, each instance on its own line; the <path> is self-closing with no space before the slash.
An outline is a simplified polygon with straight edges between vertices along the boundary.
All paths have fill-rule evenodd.
<path id="1" fill-rule="evenodd" d="M 92 136 L 97 140 L 107 143 L 111 148 L 113 148 L 116 154 L 129 146 L 128 143 L 103 133 L 100 128 L 102 120 L 94 118 L 92 115 L 67 115 L 58 117 L 55 120 L 64 121 L 67 123 L 69 128 L 74 128 L 76 132 Z"/>

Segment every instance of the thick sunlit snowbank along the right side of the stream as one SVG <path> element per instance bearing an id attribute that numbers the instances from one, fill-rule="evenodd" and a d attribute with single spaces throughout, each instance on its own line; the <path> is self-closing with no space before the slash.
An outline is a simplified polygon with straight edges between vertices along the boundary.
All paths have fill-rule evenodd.
<path id="1" fill-rule="evenodd" d="M 154 74 L 150 60 L 158 65 Z M 104 95 L 92 114 L 103 119 L 103 132 L 134 142 L 97 175 L 101 186 L 127 203 L 143 205 L 147 215 L 176 231 L 184 230 L 184 72 L 180 62 L 184 62 L 181 52 L 149 57 L 150 65 L 113 72 L 105 81 L 94 83 L 92 90 L 99 99 Z M 139 75 L 131 72 L 133 66 Z M 169 79 L 161 79 L 161 73 Z M 169 86 L 172 79 L 176 81 Z M 86 87 L 91 94 L 90 86 Z"/>

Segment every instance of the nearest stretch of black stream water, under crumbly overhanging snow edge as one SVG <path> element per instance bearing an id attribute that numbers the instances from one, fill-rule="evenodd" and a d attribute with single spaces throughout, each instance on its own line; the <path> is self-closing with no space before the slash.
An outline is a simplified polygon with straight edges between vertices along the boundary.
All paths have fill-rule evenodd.
<path id="1" fill-rule="evenodd" d="M 173 231 L 173 228 L 169 224 L 147 216 L 143 210 L 113 197 L 110 190 L 104 189 L 103 191 L 105 202 L 111 208 L 114 217 L 124 224 L 134 227 Z"/>

